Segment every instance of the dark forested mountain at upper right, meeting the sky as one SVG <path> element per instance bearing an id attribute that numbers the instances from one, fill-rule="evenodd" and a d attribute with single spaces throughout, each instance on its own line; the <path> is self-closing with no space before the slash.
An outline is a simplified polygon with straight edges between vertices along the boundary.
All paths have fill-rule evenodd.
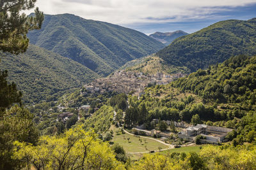
<path id="1" fill-rule="evenodd" d="M 225 20 L 175 39 L 156 55 L 168 64 L 196 71 L 234 55 L 255 55 L 255 46 L 256 18 Z"/>

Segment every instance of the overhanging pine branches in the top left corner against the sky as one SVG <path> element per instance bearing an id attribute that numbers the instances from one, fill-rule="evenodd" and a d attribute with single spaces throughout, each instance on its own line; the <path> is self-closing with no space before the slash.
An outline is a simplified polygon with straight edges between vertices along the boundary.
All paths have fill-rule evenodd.
<path id="1" fill-rule="evenodd" d="M 35 17 L 28 17 L 22 10 L 31 10 L 36 0 L 1 0 L 0 3 L 0 50 L 18 54 L 26 52 L 28 31 L 40 29 L 44 13 L 36 8 Z"/>

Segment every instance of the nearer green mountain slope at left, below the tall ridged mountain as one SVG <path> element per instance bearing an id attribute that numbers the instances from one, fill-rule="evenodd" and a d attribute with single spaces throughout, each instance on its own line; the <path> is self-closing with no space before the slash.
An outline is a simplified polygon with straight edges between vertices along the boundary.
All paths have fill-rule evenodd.
<path id="1" fill-rule="evenodd" d="M 17 83 L 25 103 L 56 100 L 99 78 L 82 64 L 35 45 L 29 45 L 26 53 L 2 57 L 0 66 L 8 70 L 8 81 Z"/>

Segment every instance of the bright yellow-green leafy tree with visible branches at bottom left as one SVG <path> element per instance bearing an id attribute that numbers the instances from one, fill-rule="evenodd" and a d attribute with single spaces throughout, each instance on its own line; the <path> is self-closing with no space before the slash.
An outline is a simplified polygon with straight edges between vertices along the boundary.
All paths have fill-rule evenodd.
<path id="1" fill-rule="evenodd" d="M 122 168 L 108 144 L 96 137 L 78 126 L 60 136 L 42 136 L 36 146 L 16 141 L 13 158 L 38 170 Z"/>

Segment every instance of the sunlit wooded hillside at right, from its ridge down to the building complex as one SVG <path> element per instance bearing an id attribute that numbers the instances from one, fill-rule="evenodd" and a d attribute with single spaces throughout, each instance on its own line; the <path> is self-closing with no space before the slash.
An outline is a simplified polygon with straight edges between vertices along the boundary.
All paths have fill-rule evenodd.
<path id="1" fill-rule="evenodd" d="M 148 129 L 154 118 L 234 128 L 227 137 L 234 144 L 256 139 L 256 56 L 238 55 L 222 64 L 199 69 L 168 85 L 145 89 L 138 99 L 129 96 L 127 125 L 144 122 Z M 134 117 L 145 106 L 143 117 Z M 140 113 L 140 112 L 139 112 Z M 129 116 L 129 115 L 128 115 Z M 195 122 L 195 117 L 198 117 Z M 203 122 L 204 121 L 204 122 Z"/>

